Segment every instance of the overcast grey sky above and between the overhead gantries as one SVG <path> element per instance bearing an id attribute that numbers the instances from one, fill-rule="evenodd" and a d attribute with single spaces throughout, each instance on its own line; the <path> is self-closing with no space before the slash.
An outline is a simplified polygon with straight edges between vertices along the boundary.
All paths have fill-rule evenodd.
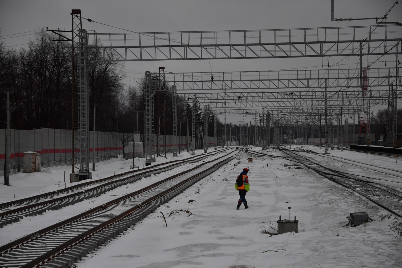
<path id="1" fill-rule="evenodd" d="M 395 0 L 335 0 L 335 18 L 382 17 L 394 2 Z M 84 18 L 135 32 L 375 25 L 375 20 L 331 21 L 330 3 L 330 0 L 0 0 L 0 27 L 2 40 L 6 45 L 18 49 L 33 38 L 33 30 L 43 27 L 71 30 L 72 9 L 81 9 Z M 390 12 L 387 21 L 402 22 L 402 2 Z M 123 32 L 85 20 L 83 28 L 98 33 Z M 21 34 L 14 35 L 16 33 Z M 329 60 L 332 64 L 340 59 Z M 392 64 L 392 60 L 390 59 L 389 64 Z M 349 57 L 345 61 L 349 64 L 357 63 L 358 58 Z M 322 58 L 239 59 L 210 62 L 126 62 L 125 69 L 127 76 L 141 76 L 146 70 L 157 71 L 159 66 L 165 66 L 169 72 L 218 72 L 315 69 L 314 66 L 321 65 Z M 125 82 L 127 86 L 136 85 L 129 79 L 125 79 Z"/>

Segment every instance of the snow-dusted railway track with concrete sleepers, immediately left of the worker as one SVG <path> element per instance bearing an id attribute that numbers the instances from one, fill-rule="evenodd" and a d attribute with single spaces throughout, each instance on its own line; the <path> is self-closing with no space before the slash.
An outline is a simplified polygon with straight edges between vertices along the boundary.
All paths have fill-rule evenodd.
<path id="1" fill-rule="evenodd" d="M 69 267 L 234 159 L 237 153 L 230 152 L 219 159 L 205 161 L 144 189 L 12 241 L 0 247 L 0 267 Z"/>

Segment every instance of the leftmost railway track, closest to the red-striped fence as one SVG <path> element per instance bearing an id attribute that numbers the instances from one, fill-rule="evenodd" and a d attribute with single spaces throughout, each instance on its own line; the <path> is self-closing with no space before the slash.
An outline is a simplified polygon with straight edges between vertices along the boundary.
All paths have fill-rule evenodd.
<path id="1" fill-rule="evenodd" d="M 18 208 L 14 208 L 14 209 L 10 209 L 10 210 L 1 212 L 0 213 L 0 217 L 1 217 L 0 218 L 0 228 L 3 227 L 4 225 L 9 225 L 16 221 L 19 221 L 20 219 L 23 219 L 24 216 L 35 216 L 37 214 L 42 214 L 43 212 L 46 212 L 47 210 L 55 210 L 55 209 L 59 209 L 59 208 L 65 207 L 65 206 L 70 206 L 77 202 L 81 202 L 83 200 L 104 194 L 105 192 L 113 190 L 113 189 L 115 189 L 119 186 L 125 185 L 127 183 L 133 183 L 135 181 L 138 181 L 142 177 L 147 177 L 152 174 L 161 173 L 163 171 L 173 169 L 174 167 L 183 165 L 185 163 L 192 163 L 195 161 L 199 161 L 201 159 L 205 159 L 206 157 L 210 157 L 210 156 L 222 153 L 223 151 L 224 150 L 220 150 L 218 152 L 210 153 L 208 155 L 202 155 L 201 157 L 197 157 L 196 159 L 193 159 L 193 157 L 192 157 L 190 160 L 180 161 L 179 163 L 174 163 L 172 165 L 169 165 L 166 167 L 161 167 L 159 169 L 150 169 L 148 171 L 143 171 L 143 172 L 137 173 L 135 175 L 130 175 L 129 177 L 123 177 L 121 179 L 113 179 L 112 181 L 107 181 L 106 183 L 100 184 L 93 188 L 85 189 L 80 192 L 74 192 L 72 194 L 60 196 L 58 198 L 52 198 L 52 199 L 41 201 L 41 202 L 35 202 L 35 201 L 43 200 L 43 199 L 37 199 L 37 198 L 33 197 L 33 200 L 31 200 L 31 202 L 24 201 L 24 203 L 35 202 L 34 204 L 29 204 L 26 206 L 21 206 Z M 176 161 L 174 161 L 174 162 L 176 162 Z M 129 173 L 129 174 L 131 174 L 131 173 Z M 115 176 L 113 176 L 113 177 L 115 177 Z M 107 179 L 107 178 L 105 178 L 105 179 Z M 103 179 L 103 181 L 105 181 L 105 179 Z M 78 187 L 76 189 L 82 189 L 82 187 Z M 48 196 L 48 198 L 50 198 L 50 197 L 51 196 Z M 14 204 L 14 206 L 15 205 L 17 205 L 17 204 Z"/>

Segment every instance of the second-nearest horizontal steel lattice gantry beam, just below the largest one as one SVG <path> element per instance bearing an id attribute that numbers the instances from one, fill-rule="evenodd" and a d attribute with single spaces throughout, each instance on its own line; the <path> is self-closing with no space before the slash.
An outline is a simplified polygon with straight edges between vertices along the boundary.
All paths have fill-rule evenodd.
<path id="1" fill-rule="evenodd" d="M 402 67 L 371 67 L 366 70 L 366 89 L 388 87 L 394 81 L 391 75 L 401 70 Z M 328 79 L 328 89 L 361 89 L 362 77 L 357 69 L 166 73 L 166 80 L 176 85 L 178 91 L 189 94 L 194 90 L 217 93 L 224 88 L 228 93 L 241 89 L 314 89 L 324 87 L 325 79 Z"/>

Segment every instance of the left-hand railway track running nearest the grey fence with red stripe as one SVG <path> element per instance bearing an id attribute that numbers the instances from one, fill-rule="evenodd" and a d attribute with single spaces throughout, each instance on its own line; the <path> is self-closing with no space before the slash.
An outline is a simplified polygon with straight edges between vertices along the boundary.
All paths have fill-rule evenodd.
<path id="1" fill-rule="evenodd" d="M 91 180 L 66 189 L 0 204 L 0 228 L 20 221 L 27 216 L 35 216 L 48 210 L 63 208 L 99 196 L 127 183 L 138 181 L 143 177 L 168 171 L 186 163 L 199 162 L 206 157 L 219 155 L 226 150 L 228 149 L 191 157 L 186 160 L 170 161 L 137 171 L 127 171 L 104 179 Z M 158 166 L 161 167 L 155 168 Z"/>

